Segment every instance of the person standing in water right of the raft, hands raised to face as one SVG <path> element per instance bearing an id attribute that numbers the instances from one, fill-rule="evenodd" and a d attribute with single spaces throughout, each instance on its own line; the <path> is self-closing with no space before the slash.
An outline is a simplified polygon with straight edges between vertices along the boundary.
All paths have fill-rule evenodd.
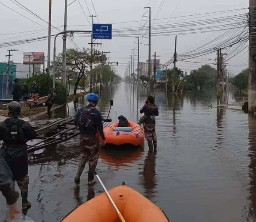
<path id="1" fill-rule="evenodd" d="M 157 134 L 156 134 L 156 116 L 158 116 L 158 108 L 154 103 L 154 97 L 148 96 L 145 105 L 140 109 L 140 113 L 144 113 L 143 120 L 140 124 L 144 123 L 145 138 L 148 142 L 148 148 L 157 148 Z"/>

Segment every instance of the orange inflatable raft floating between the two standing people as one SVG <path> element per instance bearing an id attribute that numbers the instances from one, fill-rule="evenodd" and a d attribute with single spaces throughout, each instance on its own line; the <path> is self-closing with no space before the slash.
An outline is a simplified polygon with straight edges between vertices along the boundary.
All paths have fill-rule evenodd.
<path id="1" fill-rule="evenodd" d="M 118 127 L 118 122 L 104 127 L 107 144 L 140 146 L 144 144 L 144 131 L 141 125 L 128 121 L 128 127 Z"/>

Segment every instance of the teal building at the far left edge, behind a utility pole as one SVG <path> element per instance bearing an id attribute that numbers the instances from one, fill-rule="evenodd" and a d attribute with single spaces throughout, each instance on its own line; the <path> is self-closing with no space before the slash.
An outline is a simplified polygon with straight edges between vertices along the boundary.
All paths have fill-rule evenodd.
<path id="1" fill-rule="evenodd" d="M 0 63 L 0 98 L 1 99 L 12 98 L 12 85 L 13 85 L 13 80 L 15 80 L 16 78 L 16 65 L 10 64 L 8 96 L 6 96 L 7 76 L 8 76 L 7 63 Z"/>

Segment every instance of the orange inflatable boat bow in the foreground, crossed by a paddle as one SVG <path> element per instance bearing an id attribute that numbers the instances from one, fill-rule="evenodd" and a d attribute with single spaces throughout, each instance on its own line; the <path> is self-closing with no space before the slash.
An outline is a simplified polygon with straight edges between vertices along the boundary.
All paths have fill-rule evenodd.
<path id="1" fill-rule="evenodd" d="M 160 208 L 128 186 L 122 185 L 108 192 L 125 222 L 170 222 Z M 78 206 L 61 222 L 120 222 L 120 219 L 103 193 Z"/>

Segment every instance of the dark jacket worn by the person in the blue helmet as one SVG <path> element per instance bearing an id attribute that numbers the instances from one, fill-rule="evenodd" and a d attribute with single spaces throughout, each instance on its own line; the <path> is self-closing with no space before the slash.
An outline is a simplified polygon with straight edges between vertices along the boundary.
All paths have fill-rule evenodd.
<path id="1" fill-rule="evenodd" d="M 93 107 L 93 105 L 87 105 L 86 108 Z M 77 114 L 75 115 L 74 122 L 76 125 L 78 125 L 79 118 L 83 112 L 85 107 L 82 107 L 79 109 Z M 102 124 L 102 115 L 99 110 L 96 108 L 91 111 L 91 117 L 94 122 L 94 129 L 87 129 L 83 127 L 79 127 L 80 134 L 84 135 L 84 137 L 95 137 L 97 130 L 99 131 L 99 134 L 101 135 L 102 139 L 105 139 L 105 135 L 103 132 L 103 124 Z"/>

